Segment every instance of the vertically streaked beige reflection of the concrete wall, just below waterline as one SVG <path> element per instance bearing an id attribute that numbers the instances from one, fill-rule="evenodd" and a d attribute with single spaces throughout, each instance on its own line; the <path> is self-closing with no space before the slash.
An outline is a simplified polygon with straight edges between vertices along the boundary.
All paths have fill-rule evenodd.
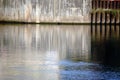
<path id="1" fill-rule="evenodd" d="M 55 51 L 62 59 L 88 59 L 89 31 L 89 26 L 4 25 L 0 33 L 2 45 L 8 48 Z"/>

